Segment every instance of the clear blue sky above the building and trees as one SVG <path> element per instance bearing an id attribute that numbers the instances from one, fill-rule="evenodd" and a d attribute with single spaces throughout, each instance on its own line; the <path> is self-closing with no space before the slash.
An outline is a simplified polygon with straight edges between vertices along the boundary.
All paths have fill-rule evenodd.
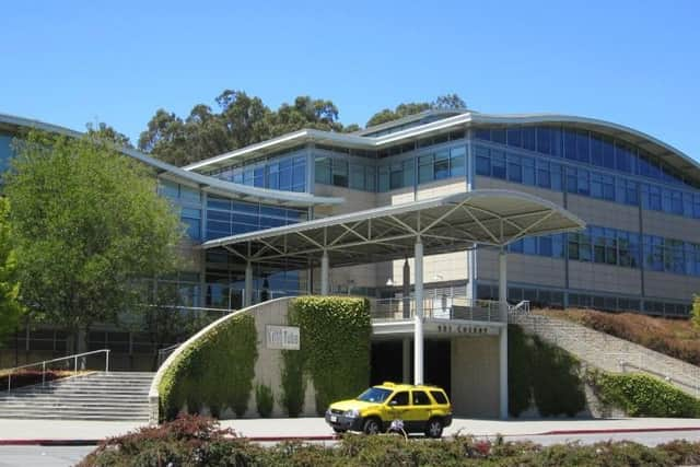
<path id="1" fill-rule="evenodd" d="M 133 141 L 224 89 L 345 124 L 458 93 L 631 126 L 700 159 L 700 1 L 27 1 L 0 13 L 0 112 Z"/>

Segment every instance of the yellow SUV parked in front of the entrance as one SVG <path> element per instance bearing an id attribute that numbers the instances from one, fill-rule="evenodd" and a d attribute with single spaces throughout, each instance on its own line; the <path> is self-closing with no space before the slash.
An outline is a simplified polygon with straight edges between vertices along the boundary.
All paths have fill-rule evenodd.
<path id="1" fill-rule="evenodd" d="M 382 383 L 354 399 L 334 402 L 326 410 L 326 422 L 336 433 L 376 434 L 394 420 L 401 420 L 408 433 L 440 437 L 443 428 L 452 423 L 452 405 L 438 386 Z"/>

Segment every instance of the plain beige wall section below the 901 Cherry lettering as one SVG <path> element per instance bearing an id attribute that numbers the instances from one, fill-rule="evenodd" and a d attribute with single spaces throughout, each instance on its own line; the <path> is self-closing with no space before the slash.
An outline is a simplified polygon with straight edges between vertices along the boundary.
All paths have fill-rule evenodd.
<path id="1" fill-rule="evenodd" d="M 499 337 L 457 337 L 451 347 L 454 415 L 499 417 Z"/>

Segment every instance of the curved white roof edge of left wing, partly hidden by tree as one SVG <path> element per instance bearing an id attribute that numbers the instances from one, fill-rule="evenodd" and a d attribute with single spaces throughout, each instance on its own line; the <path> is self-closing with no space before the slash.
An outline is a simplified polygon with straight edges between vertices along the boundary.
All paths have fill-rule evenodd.
<path id="1" fill-rule="evenodd" d="M 83 133 L 81 133 L 80 131 L 71 130 L 70 128 L 59 127 L 57 125 L 46 124 L 44 121 L 16 117 L 7 114 L 0 114 L 0 128 L 1 127 L 9 128 L 10 130 L 16 128 L 37 128 L 44 131 L 74 138 L 80 138 L 83 136 Z M 207 175 L 185 171 L 175 165 L 151 157 L 150 155 L 147 155 L 135 149 L 118 148 L 118 150 L 122 154 L 153 167 L 162 178 L 167 178 L 173 182 L 195 186 L 201 188 L 207 192 L 212 192 L 229 198 L 245 199 L 250 201 L 265 201 L 266 203 L 271 205 L 295 207 L 339 205 L 345 201 L 342 198 L 318 197 L 306 192 L 282 191 L 234 184 Z"/>

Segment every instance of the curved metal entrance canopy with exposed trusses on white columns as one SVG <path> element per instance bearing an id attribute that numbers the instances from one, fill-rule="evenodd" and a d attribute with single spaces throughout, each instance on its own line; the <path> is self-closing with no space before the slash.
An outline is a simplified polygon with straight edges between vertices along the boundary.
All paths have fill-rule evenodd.
<path id="1" fill-rule="evenodd" d="M 584 227 L 542 198 L 482 189 L 232 235 L 201 247 L 224 247 L 242 260 L 285 269 L 306 268 L 326 252 L 332 267 L 340 267 L 413 256 L 417 237 L 425 255 L 434 255 Z"/>

